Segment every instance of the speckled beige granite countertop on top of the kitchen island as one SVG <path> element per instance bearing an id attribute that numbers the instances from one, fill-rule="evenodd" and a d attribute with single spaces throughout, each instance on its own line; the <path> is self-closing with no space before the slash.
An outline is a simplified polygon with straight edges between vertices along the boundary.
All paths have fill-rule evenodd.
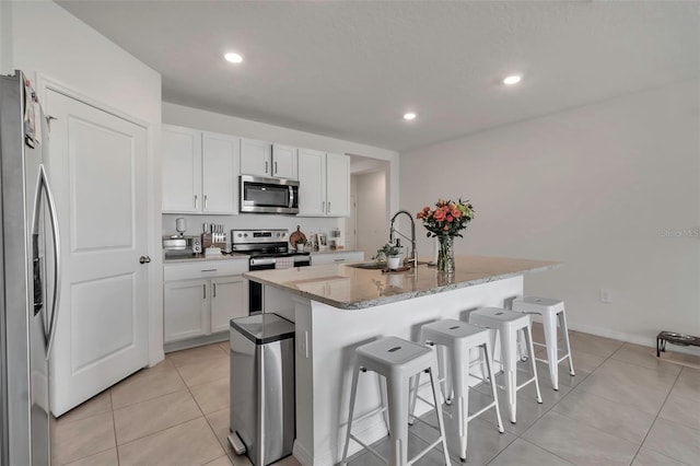
<path id="1" fill-rule="evenodd" d="M 455 273 L 419 265 L 404 272 L 353 268 L 351 264 L 259 270 L 243 275 L 252 281 L 343 310 L 361 310 L 524 273 L 550 270 L 560 263 L 508 257 L 457 256 Z"/>

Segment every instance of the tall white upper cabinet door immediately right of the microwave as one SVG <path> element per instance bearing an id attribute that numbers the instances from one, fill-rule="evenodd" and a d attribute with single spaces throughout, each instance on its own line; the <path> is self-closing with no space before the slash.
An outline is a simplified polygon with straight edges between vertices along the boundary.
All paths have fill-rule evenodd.
<path id="1" fill-rule="evenodd" d="M 299 150 L 299 214 L 326 214 L 326 153 Z"/>

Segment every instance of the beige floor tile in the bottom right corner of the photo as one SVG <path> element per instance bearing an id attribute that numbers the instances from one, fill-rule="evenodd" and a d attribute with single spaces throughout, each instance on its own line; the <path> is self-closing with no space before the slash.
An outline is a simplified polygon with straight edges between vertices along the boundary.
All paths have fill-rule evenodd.
<path id="1" fill-rule="evenodd" d="M 681 463 L 697 465 L 700 458 L 700 430 L 656 419 L 642 446 Z"/>

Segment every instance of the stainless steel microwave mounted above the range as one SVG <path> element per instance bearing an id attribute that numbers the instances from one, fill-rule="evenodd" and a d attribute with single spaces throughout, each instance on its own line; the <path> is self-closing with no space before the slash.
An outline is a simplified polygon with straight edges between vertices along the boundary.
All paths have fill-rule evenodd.
<path id="1" fill-rule="evenodd" d="M 241 175 L 242 213 L 299 213 L 299 182 Z"/>

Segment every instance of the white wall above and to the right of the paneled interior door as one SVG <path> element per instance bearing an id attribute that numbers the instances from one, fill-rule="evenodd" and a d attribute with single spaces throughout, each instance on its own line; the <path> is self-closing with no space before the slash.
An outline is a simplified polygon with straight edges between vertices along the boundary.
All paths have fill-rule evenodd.
<path id="1" fill-rule="evenodd" d="M 161 243 L 161 75 L 96 31 L 47 0 L 11 3 L 11 68 L 23 70 L 37 86 L 39 74 L 73 95 L 126 116 L 148 128 L 150 359 L 163 359 Z M 3 5 L 7 7 L 7 5 Z M 4 22 L 7 8 L 3 8 Z M 4 54 L 3 54 L 4 57 Z M 37 89 L 40 95 L 40 89 Z"/>

